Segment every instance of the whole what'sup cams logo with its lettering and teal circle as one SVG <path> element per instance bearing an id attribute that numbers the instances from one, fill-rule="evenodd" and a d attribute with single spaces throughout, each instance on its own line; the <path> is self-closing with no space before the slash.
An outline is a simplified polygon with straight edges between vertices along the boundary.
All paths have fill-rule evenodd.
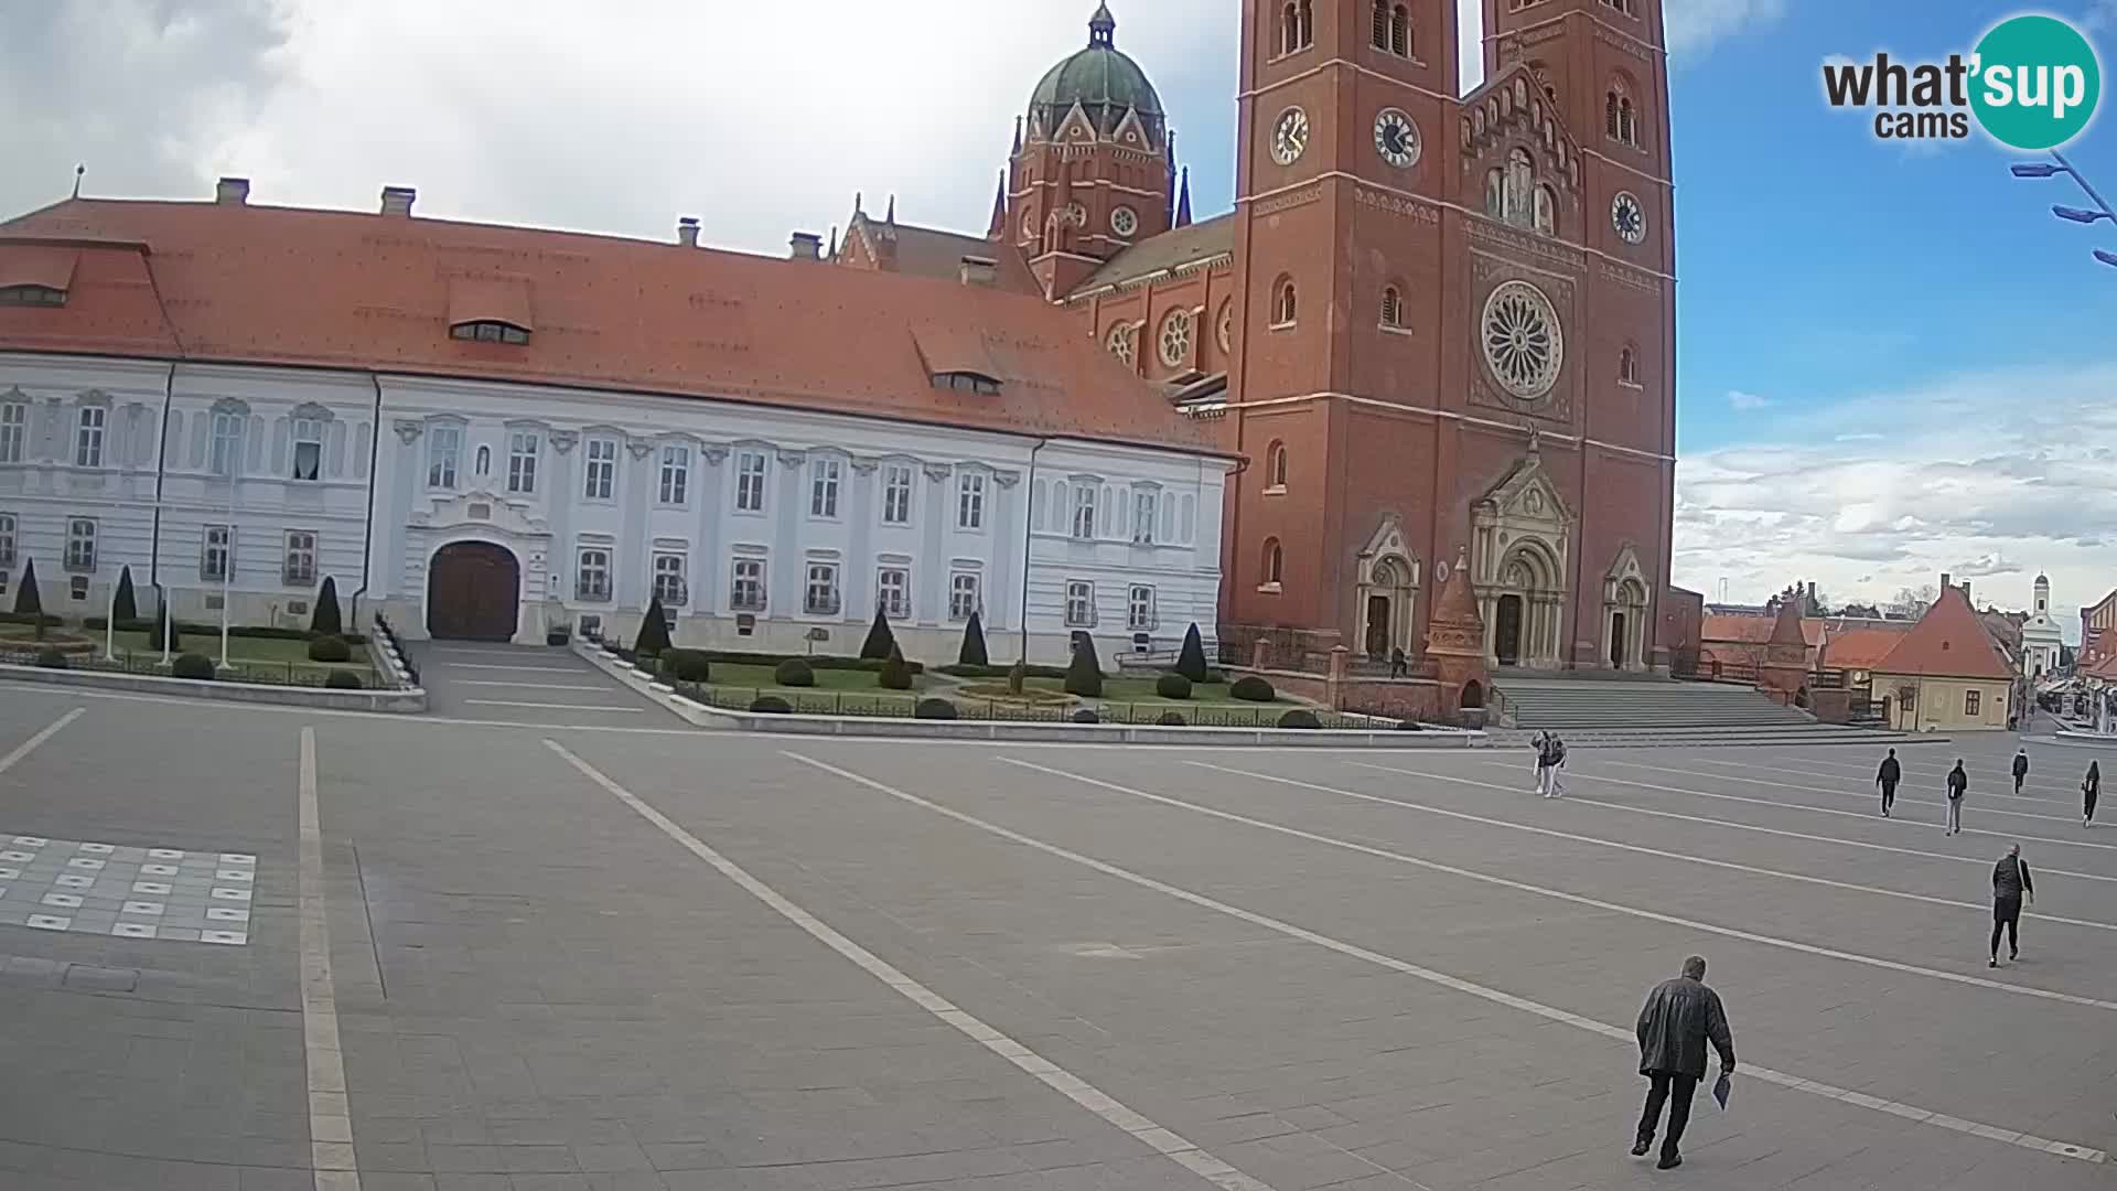
<path id="1" fill-rule="evenodd" d="M 1833 108 L 1871 108 L 1878 140 L 1965 140 L 1971 121 L 1986 136 L 2030 153 L 2060 148 L 2087 129 L 2102 97 L 2096 47 L 2058 17 L 2009 17 L 1969 55 L 1946 61 L 1823 64 Z"/>

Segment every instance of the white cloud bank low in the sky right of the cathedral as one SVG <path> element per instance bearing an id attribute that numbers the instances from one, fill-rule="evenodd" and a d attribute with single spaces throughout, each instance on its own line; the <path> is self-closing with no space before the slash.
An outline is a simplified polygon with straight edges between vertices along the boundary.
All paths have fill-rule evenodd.
<path id="1" fill-rule="evenodd" d="M 2117 365 L 2018 369 L 1780 411 L 1772 439 L 1677 464 L 1675 581 L 1880 602 L 1950 572 L 1979 606 L 2024 608 L 2045 570 L 2077 632 L 2117 587 L 2113 392 Z"/>

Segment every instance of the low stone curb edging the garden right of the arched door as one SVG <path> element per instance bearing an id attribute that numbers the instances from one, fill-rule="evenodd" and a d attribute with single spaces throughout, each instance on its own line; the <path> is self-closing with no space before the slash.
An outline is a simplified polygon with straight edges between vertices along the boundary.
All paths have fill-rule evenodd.
<path id="1" fill-rule="evenodd" d="M 1480 748 L 1482 731 L 1346 731 L 1291 727 L 1160 727 L 1160 725 L 1080 725 L 1080 723 L 1010 723 L 1010 721 L 915 721 L 883 716 L 807 716 L 754 714 L 709 708 L 677 695 L 650 674 L 603 653 L 586 642 L 574 642 L 574 653 L 591 665 L 625 682 L 644 697 L 669 708 L 671 714 L 696 727 L 764 731 L 783 735 L 887 735 L 906 740 L 1020 740 L 1061 744 L 1196 744 L 1196 746 L 1270 746 L 1270 748 Z"/>

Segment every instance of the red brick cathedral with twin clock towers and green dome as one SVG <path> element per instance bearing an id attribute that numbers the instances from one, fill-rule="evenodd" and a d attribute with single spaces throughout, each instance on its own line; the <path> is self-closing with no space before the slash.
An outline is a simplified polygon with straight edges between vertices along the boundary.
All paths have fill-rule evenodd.
<path id="1" fill-rule="evenodd" d="M 1425 655 L 1469 568 L 1492 665 L 1666 665 L 1675 239 L 1660 0 L 1245 0 L 1234 212 L 1107 6 L 1018 119 L 984 237 L 857 210 L 840 265 L 1035 288 L 1217 417 L 1222 638 Z M 1459 97 L 1461 95 L 1461 97 Z M 1181 178 L 1181 180 L 1179 180 Z"/>

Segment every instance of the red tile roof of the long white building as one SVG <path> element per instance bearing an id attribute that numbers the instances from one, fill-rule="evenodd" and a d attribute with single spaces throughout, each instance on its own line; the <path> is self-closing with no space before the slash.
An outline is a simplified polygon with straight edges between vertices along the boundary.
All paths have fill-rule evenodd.
<path id="1" fill-rule="evenodd" d="M 815 261 L 432 218 L 68 199 L 0 248 L 78 250 L 64 307 L 0 307 L 0 350 L 563 384 L 1213 449 L 1037 297 Z M 449 337 L 457 282 L 533 299 L 525 345 Z M 529 314 L 523 312 L 523 318 Z M 1001 392 L 934 388 L 976 339 Z"/>

